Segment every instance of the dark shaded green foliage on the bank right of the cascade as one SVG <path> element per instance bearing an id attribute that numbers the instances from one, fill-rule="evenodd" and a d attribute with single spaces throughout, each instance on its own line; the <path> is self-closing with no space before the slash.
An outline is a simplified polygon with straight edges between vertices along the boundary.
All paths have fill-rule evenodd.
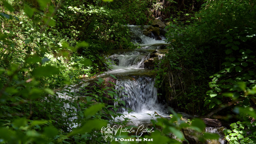
<path id="1" fill-rule="evenodd" d="M 248 1 L 214 1 L 204 3 L 189 25 L 177 19 L 170 22 L 167 36 L 171 46 L 161 69 L 173 75 L 179 73 L 176 79 L 170 78 L 179 83 L 178 90 L 172 87 L 173 93 L 182 91 L 184 100 L 192 97 L 198 104 L 206 98 L 204 106 L 209 108 L 230 102 L 227 97 L 239 98 L 237 101 L 243 102 L 242 105 L 254 105 L 255 102 L 250 102 L 255 82 L 253 6 Z M 211 78 L 209 91 L 208 77 Z M 175 98 L 183 101 L 178 94 Z M 199 108 L 203 109 L 203 105 Z"/>

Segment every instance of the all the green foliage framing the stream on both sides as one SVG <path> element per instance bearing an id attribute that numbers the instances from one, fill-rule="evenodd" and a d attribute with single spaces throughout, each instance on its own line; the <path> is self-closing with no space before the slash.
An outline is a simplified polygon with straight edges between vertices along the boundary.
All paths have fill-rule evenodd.
<path id="1" fill-rule="evenodd" d="M 128 115 L 117 112 L 119 104 L 125 105 L 119 90 L 107 87 L 103 79 L 86 86 L 87 81 L 79 78 L 104 70 L 106 62 L 100 53 L 134 48 L 123 25 L 143 25 L 148 6 L 153 4 L 156 11 L 164 7 L 156 1 L 111 1 L 1 0 L 0 143 L 102 143 L 101 127 L 131 120 L 132 110 Z M 195 114 L 207 112 L 200 110 L 200 103 L 212 75 L 205 106 L 215 108 L 222 102 L 240 106 L 232 109 L 242 122 L 237 122 L 239 127 L 231 124 L 225 132 L 234 143 L 255 141 L 254 135 L 244 133 L 255 126 L 245 119 L 256 117 L 254 8 L 249 1 L 214 1 L 202 5 L 190 24 L 173 19 L 167 32 L 172 42 L 169 54 L 157 76 L 169 75 L 172 80 L 172 87 L 163 83 L 174 94 L 167 100 L 183 102 L 178 106 Z M 67 86 L 72 83 L 78 84 Z M 202 120 L 194 119 L 189 125 L 172 113 L 170 120 L 152 119 L 161 129 L 150 138 L 178 143 L 170 136 L 186 140 L 181 133 L 184 128 L 202 134 L 201 141 L 218 138 L 204 132 Z M 117 120 L 120 116 L 123 122 Z"/>

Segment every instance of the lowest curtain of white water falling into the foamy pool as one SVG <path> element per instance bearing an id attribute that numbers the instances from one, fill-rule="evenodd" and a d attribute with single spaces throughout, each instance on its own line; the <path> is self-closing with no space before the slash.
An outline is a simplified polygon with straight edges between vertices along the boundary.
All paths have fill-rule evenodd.
<path id="1" fill-rule="evenodd" d="M 157 89 L 154 87 L 153 78 L 139 77 L 136 79 L 117 80 L 116 84 L 116 89 L 124 88 L 119 96 L 121 100 L 125 101 L 126 108 L 131 108 L 137 113 L 157 110 Z M 122 111 L 127 110 L 122 108 Z"/>

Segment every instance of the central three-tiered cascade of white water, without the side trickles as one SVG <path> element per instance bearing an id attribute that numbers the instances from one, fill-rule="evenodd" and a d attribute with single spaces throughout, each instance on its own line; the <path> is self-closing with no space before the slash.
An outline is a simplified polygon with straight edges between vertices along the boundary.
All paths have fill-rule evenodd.
<path id="1" fill-rule="evenodd" d="M 129 119 L 133 121 L 133 125 L 139 125 L 141 122 L 150 122 L 150 119 L 154 118 L 155 111 L 160 115 L 165 115 L 163 105 L 157 100 L 152 70 L 144 69 L 144 61 L 150 58 L 150 53 L 167 43 L 164 40 L 156 40 L 143 35 L 139 26 L 130 25 L 129 28 L 136 35 L 133 39 L 134 44 L 141 48 L 116 50 L 108 57 L 112 65 L 109 66 L 111 70 L 105 74 L 113 74 L 117 77 L 116 89 L 123 88 L 119 95 L 120 100 L 125 102 L 125 108 L 133 110 L 130 114 L 125 108 L 119 111 L 135 116 L 136 118 L 129 117 Z M 162 39 L 165 38 L 162 37 Z"/>

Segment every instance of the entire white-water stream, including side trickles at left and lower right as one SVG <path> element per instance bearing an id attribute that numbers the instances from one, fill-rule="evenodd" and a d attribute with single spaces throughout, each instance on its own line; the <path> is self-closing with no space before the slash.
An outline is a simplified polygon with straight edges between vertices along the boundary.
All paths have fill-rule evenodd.
<path id="1" fill-rule="evenodd" d="M 150 58 L 154 51 L 166 47 L 166 38 L 164 36 L 159 36 L 161 40 L 156 40 L 153 33 L 151 36 L 145 36 L 142 33 L 141 26 L 128 25 L 130 31 L 133 33 L 132 42 L 138 45 L 140 48 L 134 50 L 112 50 L 106 54 L 106 59 L 109 59 L 110 66 L 108 66 L 108 71 L 101 75 L 98 75 L 94 79 L 97 80 L 100 77 L 110 77 L 114 75 L 117 78 L 116 90 L 122 89 L 119 93 L 120 100 L 125 102 L 124 108 L 119 108 L 118 112 L 124 114 L 125 117 L 130 119 L 128 125 L 150 125 L 150 119 L 157 119 L 155 112 L 164 118 L 167 118 L 168 114 L 167 106 L 163 105 L 158 100 L 157 88 L 154 87 L 155 75 L 151 69 L 147 69 L 145 66 L 145 61 Z M 163 56 L 163 55 L 162 55 Z M 160 60 L 162 56 L 158 55 Z M 78 91 L 80 86 L 88 86 L 89 82 L 80 83 L 73 86 L 67 86 L 69 91 Z M 67 89 L 66 87 L 66 89 Z M 65 89 L 65 88 L 64 88 Z M 74 97 L 68 96 L 66 93 L 58 93 L 60 98 L 64 100 L 73 100 Z M 117 103 L 115 103 L 117 105 Z M 74 111 L 79 111 L 73 106 L 64 102 L 64 108 L 72 109 Z M 128 109 L 133 110 L 128 113 Z M 194 116 L 189 116 L 187 114 L 182 114 L 183 119 L 192 119 Z M 70 119 L 73 121 L 72 127 L 77 127 L 76 123 L 77 116 L 71 116 Z M 116 120 L 123 121 L 123 117 L 117 117 Z M 223 138 L 222 127 L 206 127 L 206 132 L 217 133 Z M 220 132 L 221 131 L 221 132 Z M 185 134 L 184 134 L 185 135 Z M 190 136 L 190 134 L 188 134 Z M 225 140 L 219 139 L 218 144 L 225 144 Z M 211 142 L 210 142 L 211 143 Z"/>

